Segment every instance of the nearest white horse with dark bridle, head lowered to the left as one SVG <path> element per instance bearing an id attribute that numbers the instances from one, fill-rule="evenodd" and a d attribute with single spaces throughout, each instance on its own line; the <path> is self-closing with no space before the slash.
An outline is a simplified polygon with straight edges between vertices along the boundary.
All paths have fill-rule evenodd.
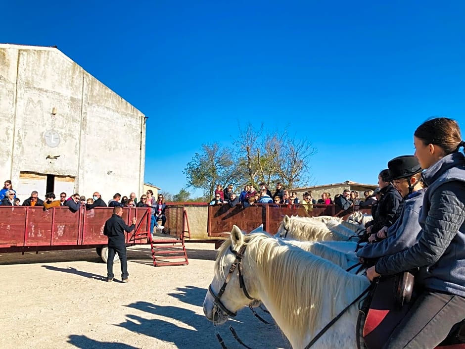
<path id="1" fill-rule="evenodd" d="M 236 258 L 239 250 L 243 253 L 241 261 Z M 228 274 L 239 262 L 242 265 Z M 242 288 L 237 270 L 241 271 Z M 226 278 L 229 282 L 225 286 Z M 267 234 L 244 236 L 234 226 L 231 240 L 218 251 L 203 311 L 210 321 L 224 323 L 229 315 L 223 309 L 233 314 L 254 302 L 247 294 L 263 302 L 292 348 L 302 349 L 369 284 L 366 277 L 349 274 L 321 257 L 282 245 Z M 218 297 L 222 285 L 225 289 Z M 350 306 L 312 348 L 357 348 L 357 315 L 358 307 Z"/>

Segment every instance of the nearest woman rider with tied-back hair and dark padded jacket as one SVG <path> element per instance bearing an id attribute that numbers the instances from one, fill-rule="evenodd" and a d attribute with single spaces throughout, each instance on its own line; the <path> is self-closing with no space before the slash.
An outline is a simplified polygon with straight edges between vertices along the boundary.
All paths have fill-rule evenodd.
<path id="1" fill-rule="evenodd" d="M 415 156 L 428 186 L 414 246 L 380 258 L 370 280 L 419 268 L 419 298 L 383 349 L 435 348 L 465 319 L 465 146 L 459 124 L 434 118 L 414 134 Z"/>

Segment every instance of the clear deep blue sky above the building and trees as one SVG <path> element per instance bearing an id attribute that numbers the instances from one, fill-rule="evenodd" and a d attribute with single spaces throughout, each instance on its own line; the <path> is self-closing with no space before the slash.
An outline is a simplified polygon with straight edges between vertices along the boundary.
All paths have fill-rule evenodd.
<path id="1" fill-rule="evenodd" d="M 57 45 L 149 117 L 145 181 L 171 194 L 201 145 L 230 144 L 238 122 L 312 142 L 312 185 L 376 183 L 389 159 L 413 153 L 413 132 L 431 116 L 465 126 L 465 1 L 3 9 L 0 42 Z"/>

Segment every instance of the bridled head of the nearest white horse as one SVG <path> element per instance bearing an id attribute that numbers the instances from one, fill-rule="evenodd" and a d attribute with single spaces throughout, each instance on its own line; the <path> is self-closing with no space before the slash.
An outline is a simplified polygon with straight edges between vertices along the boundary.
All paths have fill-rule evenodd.
<path id="1" fill-rule="evenodd" d="M 208 320 L 222 324 L 237 310 L 248 304 L 256 303 L 245 287 L 241 261 L 247 245 L 244 235 L 237 226 L 233 226 L 231 239 L 225 241 L 215 262 L 215 276 L 208 287 L 203 301 L 203 312 Z"/>

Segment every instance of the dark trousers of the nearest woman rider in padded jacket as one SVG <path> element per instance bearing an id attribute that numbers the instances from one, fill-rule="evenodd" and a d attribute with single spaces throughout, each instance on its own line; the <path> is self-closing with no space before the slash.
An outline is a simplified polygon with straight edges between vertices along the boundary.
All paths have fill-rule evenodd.
<path id="1" fill-rule="evenodd" d="M 435 348 L 465 318 L 465 298 L 424 291 L 397 325 L 383 349 Z"/>

